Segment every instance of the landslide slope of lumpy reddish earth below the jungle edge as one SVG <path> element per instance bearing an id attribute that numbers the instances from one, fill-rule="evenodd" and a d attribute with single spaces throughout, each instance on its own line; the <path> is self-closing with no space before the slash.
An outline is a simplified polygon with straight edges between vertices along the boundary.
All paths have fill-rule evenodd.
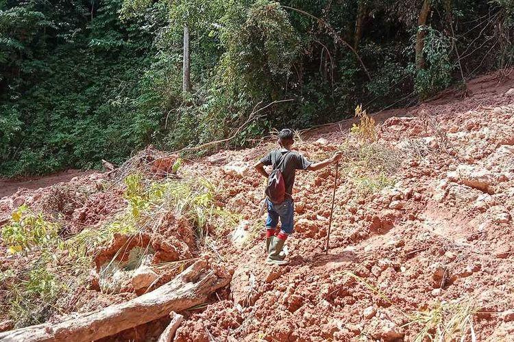
<path id="1" fill-rule="evenodd" d="M 345 157 L 328 254 L 322 248 L 334 168 L 297 172 L 295 234 L 286 241 L 289 265 L 283 267 L 264 263 L 263 181 L 251 167 L 275 147 L 271 141 L 182 163 L 180 178 L 202 179 L 201 186 L 216 189 L 201 197 L 215 208 L 209 216 L 215 219 L 207 224 L 199 215 L 163 207 L 178 200 L 162 200 L 161 193 L 175 194 L 176 188 L 156 170 L 169 170 L 175 157 L 163 166 L 167 159 L 150 150 L 114 176 L 88 174 L 2 198 L 3 230 L 13 226 L 16 218 L 10 215 L 23 204 L 58 224 L 61 247 L 55 253 L 61 258 L 52 268 L 53 279 L 65 280 L 73 293 L 62 290 L 66 295 L 51 305 L 59 310 L 45 306 L 38 321 L 134 298 L 140 288 L 130 272 L 140 264 L 160 277 L 147 284 L 156 287 L 200 254 L 210 254 L 233 272 L 230 288 L 186 312 L 177 341 L 423 341 L 441 334 L 463 341 L 512 341 L 514 81 L 500 81 L 495 73 L 470 81 L 468 89 L 467 97 L 446 92 L 416 107 L 374 115 L 376 139 L 359 134 L 358 126 L 351 130 L 357 120 L 300 135 L 295 148 L 308 159 L 321 160 L 336 150 Z M 150 167 L 141 172 L 134 160 Z M 143 179 L 132 176 L 123 183 L 136 171 Z M 136 206 L 137 196 L 146 198 L 134 190 L 138 186 L 159 194 L 158 210 Z M 145 214 L 134 208 L 158 219 L 141 224 Z M 120 228 L 129 219 L 139 224 L 135 232 Z M 195 230 L 202 239 L 193 239 Z M 62 245 L 77 236 L 91 239 L 94 232 L 101 232 L 101 244 L 87 244 L 84 267 L 69 272 L 75 259 Z M 34 269 L 42 247 L 10 254 L 5 235 L 1 244 L 6 248 L 0 251 L 5 278 L 0 320 L 10 329 L 20 326 L 12 314 L 19 313 L 12 309 L 19 303 L 12 296 L 16 279 L 30 281 L 23 274 Z M 118 269 L 110 268 L 112 261 Z M 165 321 L 117 338 L 151 339 Z"/>

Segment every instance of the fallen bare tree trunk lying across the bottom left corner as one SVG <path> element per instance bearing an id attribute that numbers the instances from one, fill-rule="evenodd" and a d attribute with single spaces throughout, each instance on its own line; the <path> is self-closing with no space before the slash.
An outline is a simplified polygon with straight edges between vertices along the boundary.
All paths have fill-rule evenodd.
<path id="1" fill-rule="evenodd" d="M 162 287 L 95 313 L 0 333 L 0 341 L 94 341 L 205 302 L 230 276 L 200 259 Z"/>

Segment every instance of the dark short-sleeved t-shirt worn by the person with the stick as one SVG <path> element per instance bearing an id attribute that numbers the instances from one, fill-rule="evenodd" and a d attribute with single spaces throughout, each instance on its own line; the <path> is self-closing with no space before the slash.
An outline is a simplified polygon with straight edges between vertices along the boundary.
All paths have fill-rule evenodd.
<path id="1" fill-rule="evenodd" d="M 291 198 L 291 195 L 293 194 L 293 184 L 295 183 L 296 170 L 306 170 L 306 168 L 308 168 L 313 162 L 308 161 L 304 156 L 300 155 L 296 151 L 286 150 L 285 148 L 272 150 L 266 155 L 266 157 L 260 159 L 260 162 L 267 166 L 272 165 L 273 168 L 275 168 L 282 158 L 285 159 L 280 165 L 280 172 L 282 172 L 282 177 L 284 177 L 286 197 Z"/>

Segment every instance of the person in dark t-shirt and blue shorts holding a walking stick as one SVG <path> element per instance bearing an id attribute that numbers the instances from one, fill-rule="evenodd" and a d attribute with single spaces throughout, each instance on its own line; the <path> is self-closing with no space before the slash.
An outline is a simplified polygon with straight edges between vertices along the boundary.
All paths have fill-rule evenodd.
<path id="1" fill-rule="evenodd" d="M 282 172 L 284 179 L 285 200 L 281 203 L 273 203 L 269 197 L 266 198 L 268 209 L 268 218 L 266 220 L 266 251 L 268 257 L 266 263 L 276 265 L 284 265 L 287 263 L 287 261 L 284 260 L 285 254 L 282 252 L 282 248 L 284 248 L 284 242 L 287 237 L 294 231 L 293 217 L 295 207 L 291 195 L 293 194 L 293 184 L 295 183 L 295 171 L 316 171 L 341 159 L 341 152 L 337 152 L 332 158 L 320 161 L 319 163 L 313 163 L 312 161 L 308 161 L 297 151 L 291 150 L 293 142 L 293 131 L 291 131 L 291 129 L 282 129 L 282 131 L 278 133 L 278 144 L 280 148 L 272 150 L 254 166 L 257 172 L 268 178 L 269 174 L 264 169 L 264 166 L 272 165 L 273 170 L 278 168 L 280 172 Z M 280 231 L 277 230 L 278 218 L 280 218 L 282 224 Z"/>

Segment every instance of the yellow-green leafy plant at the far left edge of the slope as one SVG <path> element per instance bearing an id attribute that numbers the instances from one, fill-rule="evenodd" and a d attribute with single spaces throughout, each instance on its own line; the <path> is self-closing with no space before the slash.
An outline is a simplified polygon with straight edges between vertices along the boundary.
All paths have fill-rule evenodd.
<path id="1" fill-rule="evenodd" d="M 58 224 L 48 222 L 42 213 L 35 215 L 25 205 L 12 213 L 10 224 L 3 226 L 1 235 L 11 254 L 36 246 L 58 242 Z"/>

